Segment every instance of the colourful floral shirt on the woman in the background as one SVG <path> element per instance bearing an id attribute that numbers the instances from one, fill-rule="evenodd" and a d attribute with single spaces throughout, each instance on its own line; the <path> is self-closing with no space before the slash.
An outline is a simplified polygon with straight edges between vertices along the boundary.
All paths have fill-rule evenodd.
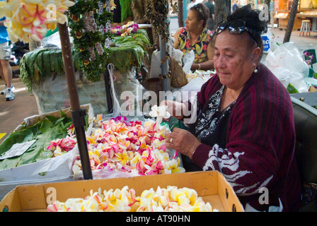
<path id="1" fill-rule="evenodd" d="M 188 32 L 185 28 L 178 28 L 179 37 L 178 37 L 178 49 L 180 49 L 183 54 L 190 52 L 193 50 L 195 53 L 194 63 L 202 63 L 207 61 L 207 47 L 209 42 L 212 41 L 212 32 L 207 28 L 202 30 L 202 34 L 198 37 L 195 44 L 190 44 L 190 32 Z"/>

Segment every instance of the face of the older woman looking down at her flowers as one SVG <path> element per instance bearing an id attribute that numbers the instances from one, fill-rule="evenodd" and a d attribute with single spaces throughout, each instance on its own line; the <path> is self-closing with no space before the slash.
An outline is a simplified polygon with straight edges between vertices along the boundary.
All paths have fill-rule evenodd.
<path id="1" fill-rule="evenodd" d="M 220 82 L 228 88 L 238 90 L 252 75 L 260 48 L 250 48 L 247 32 L 240 35 L 230 34 L 224 30 L 217 35 L 214 49 L 214 68 Z"/>

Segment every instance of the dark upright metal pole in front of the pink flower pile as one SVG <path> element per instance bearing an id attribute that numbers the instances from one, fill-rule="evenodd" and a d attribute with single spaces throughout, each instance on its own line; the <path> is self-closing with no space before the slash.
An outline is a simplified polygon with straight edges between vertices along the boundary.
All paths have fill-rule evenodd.
<path id="1" fill-rule="evenodd" d="M 66 23 L 57 23 L 57 26 L 62 44 L 62 57 L 64 61 L 65 75 L 67 78 L 69 100 L 71 103 L 71 117 L 75 127 L 77 145 L 79 148 L 79 155 L 81 157 L 83 179 L 93 179 L 93 174 L 91 172 L 91 163 L 89 160 L 88 148 L 86 143 L 86 133 L 84 128 L 86 112 L 84 110 L 81 110 L 81 105 L 79 103 L 74 61 L 71 54 L 71 44 L 69 40 L 69 32 Z"/>

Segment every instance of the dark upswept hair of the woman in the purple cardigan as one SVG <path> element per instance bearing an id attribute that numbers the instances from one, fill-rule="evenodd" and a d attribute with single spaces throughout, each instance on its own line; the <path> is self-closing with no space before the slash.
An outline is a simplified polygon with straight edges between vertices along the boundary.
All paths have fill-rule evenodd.
<path id="1" fill-rule="evenodd" d="M 246 27 L 249 29 L 250 34 L 258 42 L 258 47 L 261 49 L 260 58 L 263 55 L 263 42 L 261 35 L 267 32 L 267 25 L 265 20 L 260 20 L 260 11 L 254 10 L 250 5 L 237 8 L 226 17 L 228 23 L 232 20 L 246 21 Z M 252 39 L 252 37 L 250 37 Z M 252 42 L 251 42 L 252 43 Z"/>

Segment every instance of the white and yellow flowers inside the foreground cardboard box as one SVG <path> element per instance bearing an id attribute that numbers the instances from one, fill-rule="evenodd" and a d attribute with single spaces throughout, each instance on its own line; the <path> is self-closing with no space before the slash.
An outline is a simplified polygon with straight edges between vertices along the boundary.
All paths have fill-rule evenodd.
<path id="1" fill-rule="evenodd" d="M 120 189 L 93 192 L 86 198 L 69 198 L 65 202 L 54 201 L 47 206 L 50 212 L 217 212 L 210 203 L 197 196 L 194 189 L 178 189 L 167 186 L 161 189 L 144 190 L 135 196 L 134 189 L 124 186 Z"/>

